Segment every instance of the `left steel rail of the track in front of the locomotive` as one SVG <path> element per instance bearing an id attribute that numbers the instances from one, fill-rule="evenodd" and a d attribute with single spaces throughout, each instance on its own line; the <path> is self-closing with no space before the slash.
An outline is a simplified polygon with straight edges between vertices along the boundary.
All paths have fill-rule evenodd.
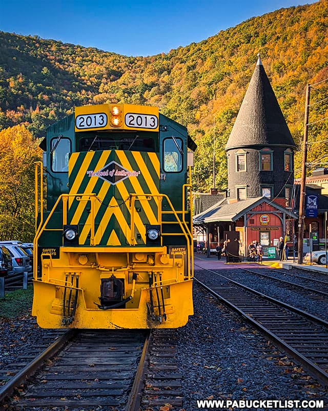
<path id="1" fill-rule="evenodd" d="M 44 362 L 49 358 L 53 357 L 54 354 L 68 341 L 70 341 L 76 333 L 76 330 L 68 330 L 65 334 L 57 338 L 49 347 L 47 347 L 37 357 L 35 357 L 35 359 L 32 360 L 29 364 L 27 364 L 22 370 L 17 372 L 17 374 L 0 389 L 0 404 L 3 404 L 5 398 L 10 396 L 16 387 L 24 383 L 27 377 L 31 376 L 35 371 L 42 367 Z"/>

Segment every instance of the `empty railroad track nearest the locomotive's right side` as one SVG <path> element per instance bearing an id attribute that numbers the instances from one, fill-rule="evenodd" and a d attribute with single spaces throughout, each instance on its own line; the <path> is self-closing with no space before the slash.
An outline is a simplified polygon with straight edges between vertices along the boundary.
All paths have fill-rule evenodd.
<path id="1" fill-rule="evenodd" d="M 203 270 L 218 276 L 219 281 L 213 280 L 209 285 L 195 278 L 202 287 L 241 314 L 312 376 L 328 386 L 328 322 L 213 270 Z"/>

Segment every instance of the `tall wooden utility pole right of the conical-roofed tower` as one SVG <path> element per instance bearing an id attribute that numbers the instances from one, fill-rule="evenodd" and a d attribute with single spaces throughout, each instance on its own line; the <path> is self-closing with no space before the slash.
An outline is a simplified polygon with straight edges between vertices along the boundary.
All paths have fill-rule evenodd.
<path id="1" fill-rule="evenodd" d="M 298 264 L 303 263 L 303 235 L 304 235 L 304 212 L 305 212 L 305 179 L 306 179 L 306 158 L 308 156 L 308 127 L 309 127 L 309 105 L 310 105 L 310 84 L 306 85 L 305 112 L 304 112 L 304 135 L 303 135 L 303 158 L 301 188 L 299 195 L 299 220 L 298 220 Z"/>

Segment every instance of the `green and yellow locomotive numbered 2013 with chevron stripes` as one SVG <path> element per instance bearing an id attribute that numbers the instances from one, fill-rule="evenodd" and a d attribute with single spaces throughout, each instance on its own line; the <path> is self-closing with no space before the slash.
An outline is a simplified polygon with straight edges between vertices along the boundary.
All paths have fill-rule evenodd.
<path id="1" fill-rule="evenodd" d="M 40 146 L 32 311 L 38 324 L 185 325 L 193 314 L 188 148 L 196 148 L 186 127 L 157 107 L 91 105 L 48 127 Z"/>

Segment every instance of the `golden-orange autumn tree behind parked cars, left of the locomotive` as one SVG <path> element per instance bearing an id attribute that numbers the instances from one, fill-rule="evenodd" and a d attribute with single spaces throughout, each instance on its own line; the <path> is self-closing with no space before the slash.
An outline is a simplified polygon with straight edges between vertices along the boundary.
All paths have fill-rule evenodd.
<path id="1" fill-rule="evenodd" d="M 24 125 L 0 132 L 0 239 L 32 241 L 34 162 L 42 157 Z"/>

